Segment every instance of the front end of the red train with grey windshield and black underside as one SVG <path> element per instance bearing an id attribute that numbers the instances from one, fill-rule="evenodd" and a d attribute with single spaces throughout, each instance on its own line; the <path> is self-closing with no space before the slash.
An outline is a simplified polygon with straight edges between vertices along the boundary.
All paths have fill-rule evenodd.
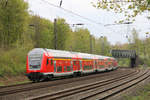
<path id="1" fill-rule="evenodd" d="M 43 81 L 42 61 L 44 50 L 35 48 L 27 55 L 26 76 L 33 82 Z"/>

